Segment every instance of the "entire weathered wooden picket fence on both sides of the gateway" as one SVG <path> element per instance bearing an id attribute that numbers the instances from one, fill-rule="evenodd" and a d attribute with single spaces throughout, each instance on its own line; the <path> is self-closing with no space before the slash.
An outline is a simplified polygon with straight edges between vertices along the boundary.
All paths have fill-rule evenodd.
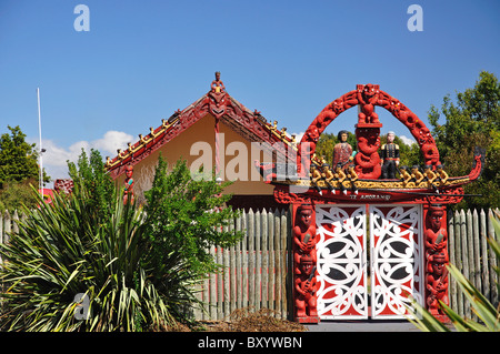
<path id="1" fill-rule="evenodd" d="M 498 209 L 496 210 L 498 212 Z M 499 279 L 494 272 L 497 259 L 487 237 L 499 240 L 490 215 L 492 210 L 457 211 L 448 213 L 450 263 L 494 305 L 498 306 Z M 8 242 L 17 232 L 17 212 L 0 214 L 0 242 Z M 243 231 L 244 236 L 229 249 L 212 249 L 222 265 L 217 274 L 209 274 L 198 287 L 198 296 L 207 311 L 194 310 L 197 320 L 229 318 L 234 310 L 269 309 L 280 318 L 290 318 L 291 299 L 291 214 L 282 211 L 241 211 L 229 227 Z M 1 262 L 1 259 L 0 259 Z M 450 277 L 450 306 L 464 317 L 473 317 L 470 304 L 457 282 Z"/>

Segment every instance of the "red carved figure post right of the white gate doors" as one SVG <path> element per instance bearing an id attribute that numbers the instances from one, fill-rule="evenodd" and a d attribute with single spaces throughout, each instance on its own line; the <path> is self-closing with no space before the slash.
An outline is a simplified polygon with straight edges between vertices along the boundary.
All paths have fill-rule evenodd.
<path id="1" fill-rule="evenodd" d="M 427 262 L 427 299 L 429 312 L 434 316 L 443 316 L 439 302 L 448 301 L 448 232 L 446 223 L 446 206 L 430 205 L 426 218 L 426 262 Z"/>

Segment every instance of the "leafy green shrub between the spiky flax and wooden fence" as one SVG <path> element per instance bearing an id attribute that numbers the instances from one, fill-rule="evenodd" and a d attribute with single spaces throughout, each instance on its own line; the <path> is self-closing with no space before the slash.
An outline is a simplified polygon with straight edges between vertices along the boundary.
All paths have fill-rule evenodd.
<path id="1" fill-rule="evenodd" d="M 167 266 L 172 245 L 200 279 L 217 269 L 209 253 L 211 246 L 226 247 L 242 234 L 224 231 L 237 212 L 222 208 L 231 195 L 223 195 L 227 184 L 214 179 L 192 179 L 186 161 L 179 160 L 170 173 L 168 163 L 159 158 L 153 184 L 146 192 L 147 227 L 151 249 L 150 256 L 158 266 L 158 274 Z"/>

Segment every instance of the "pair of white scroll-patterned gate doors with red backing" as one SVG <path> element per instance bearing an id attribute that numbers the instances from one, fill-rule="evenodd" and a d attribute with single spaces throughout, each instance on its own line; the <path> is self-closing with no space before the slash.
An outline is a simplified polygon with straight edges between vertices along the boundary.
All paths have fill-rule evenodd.
<path id="1" fill-rule="evenodd" d="M 322 320 L 404 318 L 409 294 L 422 303 L 421 205 L 317 205 L 316 222 Z"/>

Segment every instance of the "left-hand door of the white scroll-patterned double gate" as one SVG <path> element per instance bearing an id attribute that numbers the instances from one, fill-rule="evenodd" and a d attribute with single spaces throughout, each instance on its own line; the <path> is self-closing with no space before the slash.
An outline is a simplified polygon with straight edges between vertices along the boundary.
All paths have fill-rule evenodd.
<path id="1" fill-rule="evenodd" d="M 318 314 L 368 318 L 366 206 L 316 208 Z"/>

